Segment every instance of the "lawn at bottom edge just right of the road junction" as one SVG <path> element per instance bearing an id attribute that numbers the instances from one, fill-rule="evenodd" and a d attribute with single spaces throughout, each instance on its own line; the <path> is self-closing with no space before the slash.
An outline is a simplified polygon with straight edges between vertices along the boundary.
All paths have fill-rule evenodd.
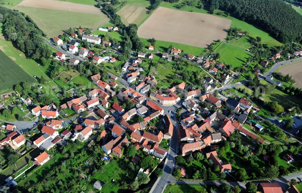
<path id="1" fill-rule="evenodd" d="M 207 188 L 205 185 L 198 184 L 174 184 L 167 185 L 164 193 L 196 193 L 201 191 L 201 189 Z"/>

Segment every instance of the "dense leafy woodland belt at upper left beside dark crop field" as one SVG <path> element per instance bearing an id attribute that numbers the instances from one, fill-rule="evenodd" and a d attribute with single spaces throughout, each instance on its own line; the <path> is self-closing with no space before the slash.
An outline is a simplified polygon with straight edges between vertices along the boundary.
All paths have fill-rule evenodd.
<path id="1" fill-rule="evenodd" d="M 34 21 L 19 11 L 0 7 L 0 22 L 3 22 L 4 35 L 18 49 L 33 59 L 49 58 L 51 51 L 43 41 L 46 36 Z"/>

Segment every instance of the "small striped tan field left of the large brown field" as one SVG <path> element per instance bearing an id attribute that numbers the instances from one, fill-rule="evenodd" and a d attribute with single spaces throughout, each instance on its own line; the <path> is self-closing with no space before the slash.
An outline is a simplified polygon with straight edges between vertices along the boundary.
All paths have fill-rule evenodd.
<path id="1" fill-rule="evenodd" d="M 146 7 L 127 4 L 117 14 L 121 16 L 122 22 L 128 26 L 131 23 L 138 25 L 146 17 L 147 11 Z"/>

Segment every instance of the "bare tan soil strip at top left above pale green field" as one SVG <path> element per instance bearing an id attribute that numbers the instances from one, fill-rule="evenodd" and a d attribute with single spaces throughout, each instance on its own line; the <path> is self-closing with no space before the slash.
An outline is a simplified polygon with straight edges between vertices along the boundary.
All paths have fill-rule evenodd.
<path id="1" fill-rule="evenodd" d="M 103 15 L 103 13 L 93 5 L 84 5 L 84 4 L 56 1 L 56 0 L 24 0 L 21 1 L 16 6 L 54 9 L 60 11 L 69 11 L 69 7 L 70 7 L 71 12 Z"/>

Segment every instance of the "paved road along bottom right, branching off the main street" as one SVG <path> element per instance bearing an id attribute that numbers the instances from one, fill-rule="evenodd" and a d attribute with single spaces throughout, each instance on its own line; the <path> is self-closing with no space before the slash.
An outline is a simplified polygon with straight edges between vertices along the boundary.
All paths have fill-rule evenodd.
<path id="1" fill-rule="evenodd" d="M 283 177 L 279 177 L 276 179 L 271 179 L 271 180 L 266 180 L 266 181 L 255 181 L 253 183 L 255 183 L 256 185 L 258 183 L 261 182 L 274 182 L 274 183 L 278 183 L 281 188 L 284 190 L 284 192 L 287 191 L 289 185 L 288 185 L 288 181 L 291 179 L 296 179 L 297 182 L 299 182 L 299 180 L 297 179 L 297 177 L 301 177 L 302 176 L 302 172 L 299 173 L 294 173 L 294 174 L 290 174 L 288 176 L 283 176 Z M 182 181 L 182 180 L 178 180 L 175 179 L 171 176 L 171 183 L 175 183 L 175 184 L 208 184 L 208 185 L 221 185 L 223 182 L 217 182 L 217 181 Z M 224 182 L 232 187 L 238 185 L 241 189 L 245 189 L 245 185 L 246 182 Z"/>

